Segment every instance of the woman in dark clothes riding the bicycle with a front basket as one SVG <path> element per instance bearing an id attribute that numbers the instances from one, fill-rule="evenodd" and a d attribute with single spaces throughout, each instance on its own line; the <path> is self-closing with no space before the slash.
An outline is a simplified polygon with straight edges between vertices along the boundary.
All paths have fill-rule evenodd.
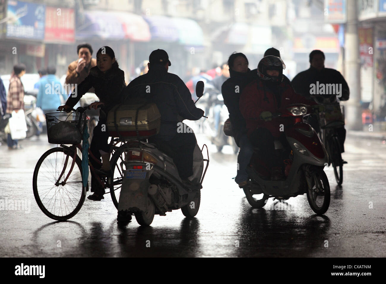
<path id="1" fill-rule="evenodd" d="M 66 104 L 60 106 L 59 110 L 66 111 L 72 109 L 91 87 L 94 87 L 95 95 L 99 98 L 99 102 L 93 102 L 90 105 L 90 109 L 97 109 L 100 105 L 101 108 L 98 125 L 95 126 L 93 131 L 90 151 L 99 160 L 102 156 L 102 167 L 100 170 L 97 170 L 98 175 L 110 175 L 110 148 L 107 143 L 108 133 L 106 129 L 107 114 L 114 105 L 121 102 L 120 93 L 125 87 L 125 74 L 118 67 L 114 51 L 108 46 L 103 46 L 98 50 L 97 66 L 91 68 L 90 74 L 75 87 Z M 98 167 L 92 159 L 90 161 L 94 168 Z M 104 191 L 98 180 L 91 175 L 91 192 L 94 192 L 94 194 L 87 198 L 100 201 L 104 199 Z"/>

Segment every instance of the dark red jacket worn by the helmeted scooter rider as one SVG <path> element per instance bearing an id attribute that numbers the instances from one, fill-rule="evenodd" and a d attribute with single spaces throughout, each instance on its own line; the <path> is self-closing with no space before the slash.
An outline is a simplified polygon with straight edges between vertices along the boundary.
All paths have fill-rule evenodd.
<path id="1" fill-rule="evenodd" d="M 271 121 L 263 121 L 259 118 L 263 111 L 270 111 L 272 114 L 276 114 L 278 111 L 276 96 L 263 84 L 264 82 L 257 78 L 244 88 L 240 97 L 240 112 L 247 122 L 248 135 L 256 128 L 267 128 L 274 137 L 279 137 L 283 133 L 280 131 L 280 124 L 283 124 L 285 129 L 288 119 L 279 117 Z M 279 90 L 281 92 L 281 106 L 279 108 L 290 104 L 316 104 L 296 94 L 288 83 L 281 82 Z M 264 92 L 266 98 L 264 98 Z"/>

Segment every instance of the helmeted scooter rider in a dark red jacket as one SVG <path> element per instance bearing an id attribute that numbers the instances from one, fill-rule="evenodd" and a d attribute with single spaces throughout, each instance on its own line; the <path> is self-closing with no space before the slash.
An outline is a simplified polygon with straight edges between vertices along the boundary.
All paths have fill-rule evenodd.
<path id="1" fill-rule="evenodd" d="M 283 82 L 283 60 L 277 56 L 265 56 L 257 66 L 258 78 L 249 83 L 240 97 L 240 112 L 247 123 L 247 133 L 252 145 L 260 149 L 264 162 L 271 172 L 272 180 L 282 180 L 283 160 L 275 155 L 274 140 L 279 139 L 284 148 L 288 142 L 284 136 L 286 120 L 269 118 L 279 108 L 300 103 L 315 105 L 295 93 L 293 88 Z M 269 176 L 264 178 L 269 179 Z"/>

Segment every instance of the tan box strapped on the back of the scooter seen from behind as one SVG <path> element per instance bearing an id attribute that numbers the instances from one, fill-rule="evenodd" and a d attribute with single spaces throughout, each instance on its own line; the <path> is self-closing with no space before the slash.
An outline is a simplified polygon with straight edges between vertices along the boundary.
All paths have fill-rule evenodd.
<path id="1" fill-rule="evenodd" d="M 107 131 L 112 137 L 135 137 L 135 117 L 139 136 L 159 133 L 161 114 L 154 103 L 122 104 L 113 107 L 107 115 Z"/>

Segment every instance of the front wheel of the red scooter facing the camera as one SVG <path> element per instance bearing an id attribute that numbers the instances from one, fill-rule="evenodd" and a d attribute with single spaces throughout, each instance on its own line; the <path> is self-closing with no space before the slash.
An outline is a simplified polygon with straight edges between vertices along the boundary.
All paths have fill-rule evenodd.
<path id="1" fill-rule="evenodd" d="M 318 215 L 326 213 L 330 206 L 330 184 L 323 169 L 311 174 L 311 187 L 308 185 L 307 199 L 311 209 Z"/>

